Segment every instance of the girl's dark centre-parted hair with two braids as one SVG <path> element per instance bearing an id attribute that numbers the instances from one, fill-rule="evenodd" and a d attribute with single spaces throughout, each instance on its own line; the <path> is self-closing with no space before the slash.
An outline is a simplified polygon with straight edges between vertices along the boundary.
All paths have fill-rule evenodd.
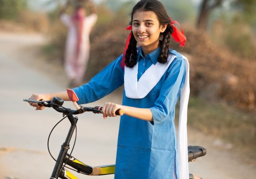
<path id="1" fill-rule="evenodd" d="M 164 8 L 164 5 L 159 2 L 158 0 L 140 0 L 134 7 L 131 14 L 131 22 L 133 21 L 133 15 L 137 10 L 142 11 L 153 11 L 158 20 L 160 25 L 167 24 L 166 30 L 161 33 L 160 35 L 163 35 L 163 40 L 160 40 L 160 55 L 158 57 L 159 63 L 166 63 L 168 52 L 169 52 L 169 41 L 171 37 L 171 33 L 173 32 L 173 28 L 170 25 L 171 20 L 169 19 L 169 16 Z M 132 37 L 130 39 L 128 49 L 126 50 L 125 55 L 125 65 L 127 67 L 132 68 L 136 62 L 137 62 L 137 41 L 135 40 L 133 33 Z"/>

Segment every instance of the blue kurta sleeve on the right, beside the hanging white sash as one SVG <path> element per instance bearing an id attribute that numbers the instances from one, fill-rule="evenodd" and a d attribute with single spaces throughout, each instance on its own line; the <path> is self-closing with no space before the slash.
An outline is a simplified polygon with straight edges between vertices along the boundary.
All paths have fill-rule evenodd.
<path id="1" fill-rule="evenodd" d="M 167 77 L 160 90 L 159 97 L 150 108 L 154 123 L 161 123 L 175 108 L 180 90 L 185 82 L 185 62 L 183 58 L 176 58 L 169 67 Z"/>

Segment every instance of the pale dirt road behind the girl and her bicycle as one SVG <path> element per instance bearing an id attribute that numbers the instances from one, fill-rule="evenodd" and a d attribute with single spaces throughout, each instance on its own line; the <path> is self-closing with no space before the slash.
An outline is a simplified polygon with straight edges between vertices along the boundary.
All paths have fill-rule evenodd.
<path id="1" fill-rule="evenodd" d="M 61 119 L 52 109 L 35 111 L 22 99 L 32 93 L 62 91 L 67 87 L 61 67 L 46 63 L 38 54 L 45 43 L 41 35 L 0 32 L 0 179 L 50 178 L 54 161 L 47 152 L 51 128 Z M 91 104 L 120 102 L 113 94 Z M 72 107 L 71 103 L 65 105 Z M 88 104 L 89 105 L 89 104 Z M 88 165 L 114 164 L 119 118 L 103 120 L 96 114 L 83 114 L 78 121 L 73 155 Z M 68 123 L 61 123 L 50 139 L 56 157 L 66 137 Z M 255 179 L 256 167 L 227 144 L 189 128 L 189 144 L 204 146 L 205 157 L 189 164 L 189 171 L 204 179 Z M 231 149 L 230 149 L 231 148 Z M 78 178 L 113 179 L 113 175 Z"/>

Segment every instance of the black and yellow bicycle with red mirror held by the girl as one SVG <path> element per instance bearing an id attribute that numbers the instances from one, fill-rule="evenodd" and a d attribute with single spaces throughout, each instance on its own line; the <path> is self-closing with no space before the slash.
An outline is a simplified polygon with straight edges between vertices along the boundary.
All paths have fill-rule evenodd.
<path id="1" fill-rule="evenodd" d="M 26 101 L 26 102 L 37 103 L 38 105 L 42 105 L 45 107 L 51 107 L 51 108 L 55 109 L 57 112 L 62 113 L 63 118 L 57 124 L 59 124 L 65 118 L 68 118 L 71 123 L 70 129 L 67 134 L 67 138 L 66 138 L 65 142 L 61 145 L 61 150 L 58 154 L 57 160 L 54 159 L 54 157 L 51 155 L 51 152 L 49 150 L 49 144 L 48 144 L 48 151 L 49 151 L 51 157 L 56 161 L 50 179 L 58 179 L 58 178 L 78 179 L 74 174 L 72 174 L 66 168 L 72 169 L 78 173 L 86 174 L 86 175 L 114 174 L 115 173 L 115 164 L 92 167 L 92 166 L 82 163 L 80 160 L 73 157 L 71 154 L 74 149 L 74 145 L 73 145 L 71 154 L 67 153 L 67 151 L 70 149 L 69 143 L 72 139 L 72 135 L 76 129 L 76 125 L 77 125 L 77 121 L 78 121 L 77 116 L 74 117 L 73 115 L 82 114 L 84 112 L 93 112 L 95 114 L 102 114 L 102 110 L 101 110 L 102 107 L 78 106 L 77 95 L 74 93 L 74 91 L 72 89 L 67 89 L 67 93 L 68 93 L 70 100 L 75 105 L 76 110 L 63 107 L 62 105 L 64 103 L 64 100 L 59 97 L 53 97 L 53 99 L 49 100 L 49 101 L 42 101 L 42 100 L 37 101 L 37 100 L 31 100 L 31 99 L 23 99 L 23 101 Z M 123 115 L 123 110 L 118 109 L 116 111 L 116 114 Z M 53 127 L 53 129 L 56 127 L 56 125 Z M 51 130 L 51 132 L 52 132 L 52 130 Z M 49 138 L 50 138 L 51 132 L 49 134 Z M 49 138 L 48 138 L 48 143 L 49 143 Z M 76 141 L 76 138 L 75 138 L 75 141 Z M 202 157 L 205 154 L 206 154 L 206 149 L 203 147 L 188 146 L 188 161 L 189 162 L 195 161 L 196 158 Z M 66 165 L 69 165 L 72 168 L 67 167 Z M 189 174 L 189 179 L 201 179 L 201 178 L 196 175 Z"/>

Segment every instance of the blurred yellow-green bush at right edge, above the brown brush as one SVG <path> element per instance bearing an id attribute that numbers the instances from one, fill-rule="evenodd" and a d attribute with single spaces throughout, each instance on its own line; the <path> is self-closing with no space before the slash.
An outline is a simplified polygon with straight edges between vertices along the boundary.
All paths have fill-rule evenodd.
<path id="1" fill-rule="evenodd" d="M 213 14 L 210 36 L 218 45 L 228 47 L 232 53 L 243 59 L 256 59 L 256 26 L 237 10 L 216 11 Z M 250 18 L 251 20 L 255 18 Z M 256 18 L 255 18 L 256 20 Z"/>

